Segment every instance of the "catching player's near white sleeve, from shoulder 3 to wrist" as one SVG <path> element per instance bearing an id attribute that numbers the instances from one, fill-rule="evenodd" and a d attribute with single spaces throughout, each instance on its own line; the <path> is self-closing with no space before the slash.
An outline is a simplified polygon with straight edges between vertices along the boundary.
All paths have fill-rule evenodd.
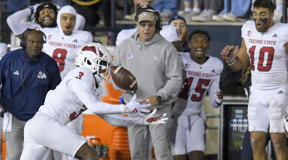
<path id="1" fill-rule="evenodd" d="M 123 104 L 112 105 L 98 101 L 89 86 L 84 81 L 72 79 L 67 82 L 67 90 L 74 92 L 81 102 L 94 114 L 122 114 L 125 113 Z"/>

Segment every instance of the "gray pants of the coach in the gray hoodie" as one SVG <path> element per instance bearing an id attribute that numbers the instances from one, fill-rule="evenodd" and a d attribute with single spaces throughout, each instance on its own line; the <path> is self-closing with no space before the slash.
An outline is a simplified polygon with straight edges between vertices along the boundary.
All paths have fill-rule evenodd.
<path id="1" fill-rule="evenodd" d="M 167 108 L 166 108 L 167 107 Z M 156 115 L 167 113 L 168 118 L 171 117 L 171 105 L 165 109 L 157 110 Z M 148 115 L 148 114 L 146 114 Z M 128 114 L 131 118 L 141 118 L 140 115 Z M 128 127 L 129 148 L 132 160 L 147 160 L 149 152 L 150 136 L 154 146 L 155 156 L 157 160 L 172 160 L 172 151 L 169 145 L 169 127 L 170 121 L 166 121 L 165 125 L 150 125 L 143 127 Z"/>

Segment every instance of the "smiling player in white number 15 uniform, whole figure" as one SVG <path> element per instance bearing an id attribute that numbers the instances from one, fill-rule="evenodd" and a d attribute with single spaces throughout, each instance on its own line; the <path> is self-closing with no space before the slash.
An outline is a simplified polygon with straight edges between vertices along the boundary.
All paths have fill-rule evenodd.
<path id="1" fill-rule="evenodd" d="M 211 105 L 220 107 L 223 95 L 219 90 L 222 62 L 205 56 L 210 36 L 203 30 L 194 30 L 189 37 L 190 54 L 179 53 L 182 62 L 183 85 L 172 109 L 170 144 L 173 159 L 204 158 L 204 121 L 202 103 L 208 91 Z"/>

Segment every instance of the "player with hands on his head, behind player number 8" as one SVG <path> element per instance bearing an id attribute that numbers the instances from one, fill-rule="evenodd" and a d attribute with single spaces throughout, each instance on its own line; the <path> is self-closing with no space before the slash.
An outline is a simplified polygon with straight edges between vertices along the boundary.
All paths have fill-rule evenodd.
<path id="1" fill-rule="evenodd" d="M 7 18 L 7 24 L 12 30 L 13 34 L 17 37 L 21 38 L 22 33 L 27 29 L 39 29 L 42 30 L 46 27 L 56 27 L 56 15 L 58 13 L 57 6 L 52 3 L 43 3 L 41 5 L 34 5 L 27 9 L 17 11 L 10 15 Z M 26 22 L 21 23 L 20 21 L 23 18 L 26 18 L 28 16 L 31 16 L 32 14 L 35 14 L 33 19 L 35 20 L 35 23 L 33 22 Z M 77 14 L 77 22 L 75 29 L 76 30 L 82 30 L 84 28 L 85 24 L 85 18 L 81 16 L 80 14 Z"/>

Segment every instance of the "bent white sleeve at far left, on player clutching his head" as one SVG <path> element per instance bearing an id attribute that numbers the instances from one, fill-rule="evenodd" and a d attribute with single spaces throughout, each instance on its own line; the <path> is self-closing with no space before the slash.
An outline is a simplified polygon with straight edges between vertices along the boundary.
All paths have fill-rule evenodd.
<path id="1" fill-rule="evenodd" d="M 20 23 L 20 21 L 23 18 L 28 17 L 30 15 L 31 15 L 31 10 L 30 8 L 27 8 L 27 9 L 15 12 L 7 18 L 7 24 L 12 30 L 14 35 L 22 34 L 27 28 L 29 28 L 29 26 L 27 26 L 26 24 Z"/>

